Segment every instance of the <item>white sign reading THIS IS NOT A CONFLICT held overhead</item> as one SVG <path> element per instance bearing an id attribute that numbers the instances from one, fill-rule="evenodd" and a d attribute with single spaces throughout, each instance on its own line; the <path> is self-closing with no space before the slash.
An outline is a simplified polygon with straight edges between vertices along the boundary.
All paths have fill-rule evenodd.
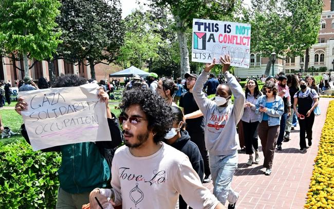
<path id="1" fill-rule="evenodd" d="M 230 54 L 231 66 L 249 68 L 251 25 L 193 19 L 192 61 L 212 63 Z"/>

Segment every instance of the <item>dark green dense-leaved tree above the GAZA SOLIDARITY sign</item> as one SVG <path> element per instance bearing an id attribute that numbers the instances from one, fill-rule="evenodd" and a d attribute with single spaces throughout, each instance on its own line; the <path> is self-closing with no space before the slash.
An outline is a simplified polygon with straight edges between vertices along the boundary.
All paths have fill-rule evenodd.
<path id="1" fill-rule="evenodd" d="M 95 79 L 95 65 L 116 60 L 124 39 L 119 0 L 62 0 L 57 22 L 63 31 L 60 58 L 70 63 L 89 62 Z"/>

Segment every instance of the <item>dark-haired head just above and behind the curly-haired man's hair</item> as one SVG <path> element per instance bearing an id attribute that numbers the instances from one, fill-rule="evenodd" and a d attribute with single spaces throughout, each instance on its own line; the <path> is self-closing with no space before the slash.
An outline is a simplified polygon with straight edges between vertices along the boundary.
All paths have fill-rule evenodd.
<path id="1" fill-rule="evenodd" d="M 177 90 L 178 86 L 174 83 L 173 79 L 163 77 L 158 82 L 156 92 L 160 97 L 165 99 L 167 104 L 177 107 L 177 104 L 173 101 L 173 96 Z"/>

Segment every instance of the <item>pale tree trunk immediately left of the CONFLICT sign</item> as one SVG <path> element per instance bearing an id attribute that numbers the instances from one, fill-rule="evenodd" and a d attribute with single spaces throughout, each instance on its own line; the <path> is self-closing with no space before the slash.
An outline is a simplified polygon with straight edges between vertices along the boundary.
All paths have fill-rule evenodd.
<path id="1" fill-rule="evenodd" d="M 187 36 L 184 30 L 184 23 L 180 20 L 180 17 L 176 17 L 176 26 L 177 26 L 177 39 L 179 41 L 179 49 L 180 49 L 180 67 L 181 67 L 181 77 L 187 72 L 190 72 L 189 66 L 189 51 L 187 46 Z"/>

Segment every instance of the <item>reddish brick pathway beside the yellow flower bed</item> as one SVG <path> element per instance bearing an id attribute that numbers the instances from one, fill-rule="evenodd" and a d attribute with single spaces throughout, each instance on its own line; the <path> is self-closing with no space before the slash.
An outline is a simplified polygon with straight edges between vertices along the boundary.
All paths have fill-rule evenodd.
<path id="1" fill-rule="evenodd" d="M 330 100 L 332 99 L 320 99 L 321 115 L 314 121 L 312 146 L 306 153 L 298 151 L 300 147 L 297 126 L 291 131 L 292 140 L 283 143 L 282 151 L 275 152 L 271 176 L 264 175 L 260 141 L 258 144 L 261 162 L 258 165 L 247 166 L 248 155 L 239 154 L 238 168 L 232 181 L 232 188 L 240 194 L 236 205 L 238 209 L 303 208 Z M 205 185 L 212 189 L 212 183 Z"/>

